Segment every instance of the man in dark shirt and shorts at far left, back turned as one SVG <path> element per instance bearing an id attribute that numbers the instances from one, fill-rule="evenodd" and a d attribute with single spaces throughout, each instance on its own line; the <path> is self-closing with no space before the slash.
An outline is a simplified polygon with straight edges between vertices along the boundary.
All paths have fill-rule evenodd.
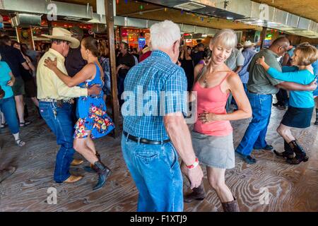
<path id="1" fill-rule="evenodd" d="M 20 126 L 27 126 L 30 121 L 24 120 L 24 102 L 23 95 L 25 94 L 24 82 L 21 78 L 20 65 L 25 70 L 30 70 L 28 62 L 24 59 L 20 50 L 11 47 L 11 38 L 4 35 L 0 38 L 0 54 L 2 61 L 5 61 L 10 67 L 13 76 L 16 78 L 16 83 L 12 86 L 14 99 L 16 100 L 16 110 L 20 121 Z"/>

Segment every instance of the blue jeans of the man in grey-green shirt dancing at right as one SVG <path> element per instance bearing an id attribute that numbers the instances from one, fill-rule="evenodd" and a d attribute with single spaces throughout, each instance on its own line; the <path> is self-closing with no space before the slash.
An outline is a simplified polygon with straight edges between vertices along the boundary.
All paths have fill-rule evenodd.
<path id="1" fill-rule="evenodd" d="M 250 155 L 253 148 L 264 148 L 267 127 L 271 119 L 272 95 L 261 95 L 247 92 L 247 97 L 252 106 L 253 118 L 249 123 L 241 143 L 237 146 L 236 152 L 242 155 Z"/>

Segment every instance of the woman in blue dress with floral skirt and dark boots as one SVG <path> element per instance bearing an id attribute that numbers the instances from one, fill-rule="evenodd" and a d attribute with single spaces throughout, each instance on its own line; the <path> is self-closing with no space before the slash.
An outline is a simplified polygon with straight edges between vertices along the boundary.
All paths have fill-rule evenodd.
<path id="1" fill-rule="evenodd" d="M 102 78 L 104 73 L 98 62 L 98 42 L 93 37 L 86 37 L 81 42 L 81 54 L 88 64 L 79 71 L 73 78 L 57 68 L 56 59 L 45 59 L 45 66 L 54 71 L 56 75 L 69 87 L 75 85 L 81 88 L 88 88 L 91 85 L 100 84 L 103 86 Z M 79 119 L 75 125 L 73 148 L 83 155 L 90 162 L 86 170 L 98 173 L 98 184 L 93 190 L 100 189 L 110 174 L 110 169 L 102 164 L 100 155 L 95 150 L 93 139 L 106 136 L 114 124 L 106 114 L 106 106 L 102 100 L 103 93 L 97 96 L 85 96 L 78 99 Z M 90 170 L 91 169 L 91 170 Z"/>

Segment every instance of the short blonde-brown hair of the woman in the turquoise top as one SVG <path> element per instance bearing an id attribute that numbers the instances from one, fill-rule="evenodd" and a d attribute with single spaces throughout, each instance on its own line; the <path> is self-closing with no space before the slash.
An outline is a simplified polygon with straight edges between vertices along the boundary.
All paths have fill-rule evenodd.
<path id="1" fill-rule="evenodd" d="M 309 44 L 308 42 L 303 42 L 296 47 L 295 52 L 298 52 L 298 62 L 295 62 L 298 66 L 308 66 L 318 59 L 318 51 L 316 47 Z"/>

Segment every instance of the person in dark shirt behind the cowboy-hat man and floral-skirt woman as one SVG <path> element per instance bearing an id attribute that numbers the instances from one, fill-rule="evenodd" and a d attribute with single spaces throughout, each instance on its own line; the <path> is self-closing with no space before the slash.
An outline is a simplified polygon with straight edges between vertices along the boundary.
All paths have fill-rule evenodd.
<path id="1" fill-rule="evenodd" d="M 75 37 L 80 42 L 82 41 L 84 32 L 81 28 L 73 27 L 70 32 L 72 33 L 72 37 Z M 69 49 L 69 54 L 65 59 L 65 67 L 69 76 L 75 76 L 86 64 L 86 60 L 84 60 L 81 55 L 81 45 L 76 49 Z"/>

